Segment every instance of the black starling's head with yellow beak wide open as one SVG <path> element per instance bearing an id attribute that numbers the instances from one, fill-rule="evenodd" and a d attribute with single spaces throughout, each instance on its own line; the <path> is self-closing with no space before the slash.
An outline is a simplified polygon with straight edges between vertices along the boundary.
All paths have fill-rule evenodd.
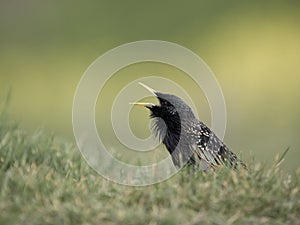
<path id="1" fill-rule="evenodd" d="M 135 102 L 134 105 L 145 106 L 151 112 L 151 118 L 161 118 L 167 125 L 182 123 L 195 118 L 192 109 L 179 97 L 165 94 L 139 83 L 150 91 L 159 101 L 159 104 L 148 102 Z"/>

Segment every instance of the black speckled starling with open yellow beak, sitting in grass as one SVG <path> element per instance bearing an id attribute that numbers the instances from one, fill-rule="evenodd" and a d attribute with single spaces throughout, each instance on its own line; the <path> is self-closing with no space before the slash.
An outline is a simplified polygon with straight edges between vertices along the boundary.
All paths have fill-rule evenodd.
<path id="1" fill-rule="evenodd" d="M 176 95 L 158 92 L 139 82 L 159 103 L 134 102 L 150 110 L 152 132 L 165 145 L 176 168 L 190 165 L 202 171 L 227 166 L 247 169 L 237 157 L 203 122 L 189 105 Z"/>

